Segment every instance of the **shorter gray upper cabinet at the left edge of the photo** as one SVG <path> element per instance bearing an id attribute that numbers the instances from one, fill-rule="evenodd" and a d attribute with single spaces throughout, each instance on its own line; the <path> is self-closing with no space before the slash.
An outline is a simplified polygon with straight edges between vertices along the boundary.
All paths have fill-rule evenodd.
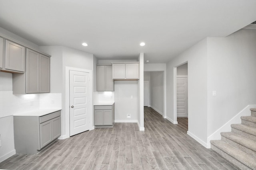
<path id="1" fill-rule="evenodd" d="M 24 73 L 25 47 L 0 37 L 0 70 L 10 73 Z"/>

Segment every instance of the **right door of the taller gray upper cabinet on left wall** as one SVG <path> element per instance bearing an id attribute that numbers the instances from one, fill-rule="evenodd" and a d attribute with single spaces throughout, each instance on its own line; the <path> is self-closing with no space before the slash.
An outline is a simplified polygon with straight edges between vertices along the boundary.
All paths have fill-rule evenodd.
<path id="1" fill-rule="evenodd" d="M 50 93 L 50 57 L 40 54 L 40 93 Z"/>

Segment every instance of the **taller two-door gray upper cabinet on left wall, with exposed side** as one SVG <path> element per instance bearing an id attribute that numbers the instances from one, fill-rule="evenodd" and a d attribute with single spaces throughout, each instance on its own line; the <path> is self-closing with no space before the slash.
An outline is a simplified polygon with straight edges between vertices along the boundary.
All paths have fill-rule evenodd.
<path id="1" fill-rule="evenodd" d="M 50 57 L 26 51 L 26 74 L 13 74 L 13 94 L 50 93 Z"/>

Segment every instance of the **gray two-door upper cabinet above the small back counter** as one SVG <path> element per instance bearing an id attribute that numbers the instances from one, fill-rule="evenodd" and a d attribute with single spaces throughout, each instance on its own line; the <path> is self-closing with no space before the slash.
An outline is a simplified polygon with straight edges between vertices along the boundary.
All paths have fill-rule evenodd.
<path id="1" fill-rule="evenodd" d="M 97 91 L 114 91 L 112 66 L 97 66 Z"/>

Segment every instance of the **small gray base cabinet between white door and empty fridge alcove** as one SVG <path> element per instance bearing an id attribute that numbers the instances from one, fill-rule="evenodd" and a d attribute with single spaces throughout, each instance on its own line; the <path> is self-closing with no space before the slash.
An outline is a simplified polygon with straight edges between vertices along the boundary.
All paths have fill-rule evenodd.
<path id="1" fill-rule="evenodd" d="M 113 127 L 114 125 L 114 104 L 94 106 L 94 126 Z"/>

